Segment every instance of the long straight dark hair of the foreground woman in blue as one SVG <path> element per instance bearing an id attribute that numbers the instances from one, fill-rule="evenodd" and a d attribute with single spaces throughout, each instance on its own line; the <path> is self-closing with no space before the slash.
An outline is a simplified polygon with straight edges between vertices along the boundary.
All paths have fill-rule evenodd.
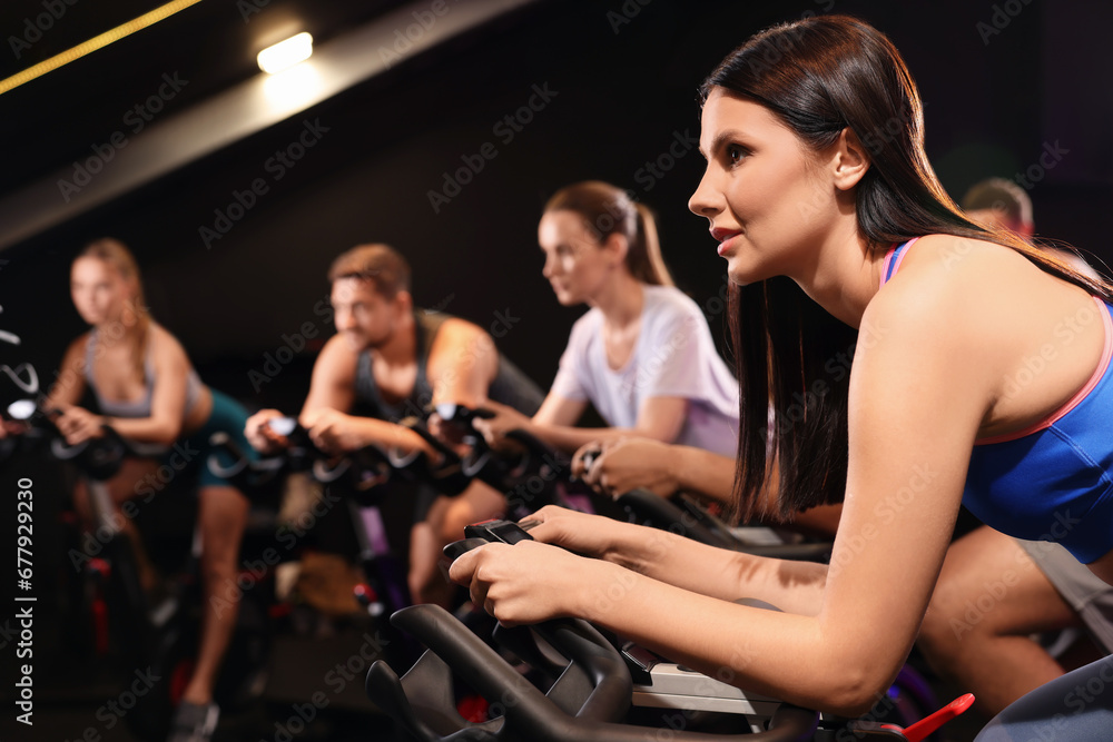
<path id="1" fill-rule="evenodd" d="M 919 92 L 881 32 L 847 16 L 772 27 L 732 51 L 700 88 L 754 100 L 814 150 L 857 135 L 870 167 L 855 191 L 858 231 L 874 250 L 932 234 L 987 240 L 1050 274 L 1113 299 L 1113 287 L 1021 237 L 967 219 L 924 151 Z M 756 511 L 776 453 L 786 517 L 841 502 L 847 469 L 849 357 L 857 330 L 836 320 L 786 277 L 731 287 L 730 327 L 741 390 L 736 509 Z"/>

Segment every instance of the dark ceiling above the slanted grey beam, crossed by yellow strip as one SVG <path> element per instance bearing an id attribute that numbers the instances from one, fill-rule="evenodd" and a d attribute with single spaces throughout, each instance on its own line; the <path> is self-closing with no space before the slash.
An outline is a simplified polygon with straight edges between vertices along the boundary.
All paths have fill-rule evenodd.
<path id="1" fill-rule="evenodd" d="M 166 4 L 159 0 L 6 0 L 0 78 Z M 137 119 L 173 71 L 188 81 L 168 102 L 184 110 L 258 75 L 259 50 L 299 31 L 317 44 L 406 4 L 403 0 L 201 0 L 39 79 L 0 95 L 6 147 L 0 194 L 85 156 L 99 131 Z M 57 17 L 57 18 L 56 18 Z M 45 30 L 43 30 L 45 29 Z M 18 58 L 17 58 L 18 55 Z"/>

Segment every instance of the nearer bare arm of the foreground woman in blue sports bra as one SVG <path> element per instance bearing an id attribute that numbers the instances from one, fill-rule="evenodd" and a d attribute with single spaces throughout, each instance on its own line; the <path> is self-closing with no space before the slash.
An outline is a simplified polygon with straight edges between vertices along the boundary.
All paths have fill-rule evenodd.
<path id="1" fill-rule="evenodd" d="M 971 303 L 946 289 L 938 281 L 916 295 L 889 291 L 884 303 L 879 294 L 864 318 L 843 522 L 826 580 L 798 585 L 815 615 L 742 607 L 608 562 L 560 555 L 558 563 L 536 544 L 512 558 L 506 552 L 522 544 L 470 552 L 453 565 L 453 578 L 500 620 L 587 615 L 712 676 L 860 713 L 915 639 L 1002 367 Z"/>

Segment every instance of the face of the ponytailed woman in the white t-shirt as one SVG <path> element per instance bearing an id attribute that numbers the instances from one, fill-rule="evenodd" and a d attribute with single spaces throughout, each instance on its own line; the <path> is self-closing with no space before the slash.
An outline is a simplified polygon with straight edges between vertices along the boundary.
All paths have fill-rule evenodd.
<path id="1" fill-rule="evenodd" d="M 614 266 L 614 255 L 601 245 L 575 211 L 548 211 L 538 226 L 538 243 L 545 255 L 542 275 L 564 306 L 590 301 Z"/>

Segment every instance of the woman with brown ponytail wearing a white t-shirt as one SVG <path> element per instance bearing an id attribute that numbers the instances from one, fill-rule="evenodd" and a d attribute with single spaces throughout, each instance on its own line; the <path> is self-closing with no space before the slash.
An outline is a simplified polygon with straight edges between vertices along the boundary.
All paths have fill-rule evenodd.
<path id="1" fill-rule="evenodd" d="M 703 314 L 672 284 L 652 212 L 610 184 L 573 184 L 549 199 L 538 241 L 556 300 L 591 309 L 538 413 L 489 405 L 495 417 L 477 423 L 487 439 L 522 428 L 567 452 L 636 435 L 732 453 L 738 386 Z M 588 403 L 611 427 L 573 427 Z"/>

